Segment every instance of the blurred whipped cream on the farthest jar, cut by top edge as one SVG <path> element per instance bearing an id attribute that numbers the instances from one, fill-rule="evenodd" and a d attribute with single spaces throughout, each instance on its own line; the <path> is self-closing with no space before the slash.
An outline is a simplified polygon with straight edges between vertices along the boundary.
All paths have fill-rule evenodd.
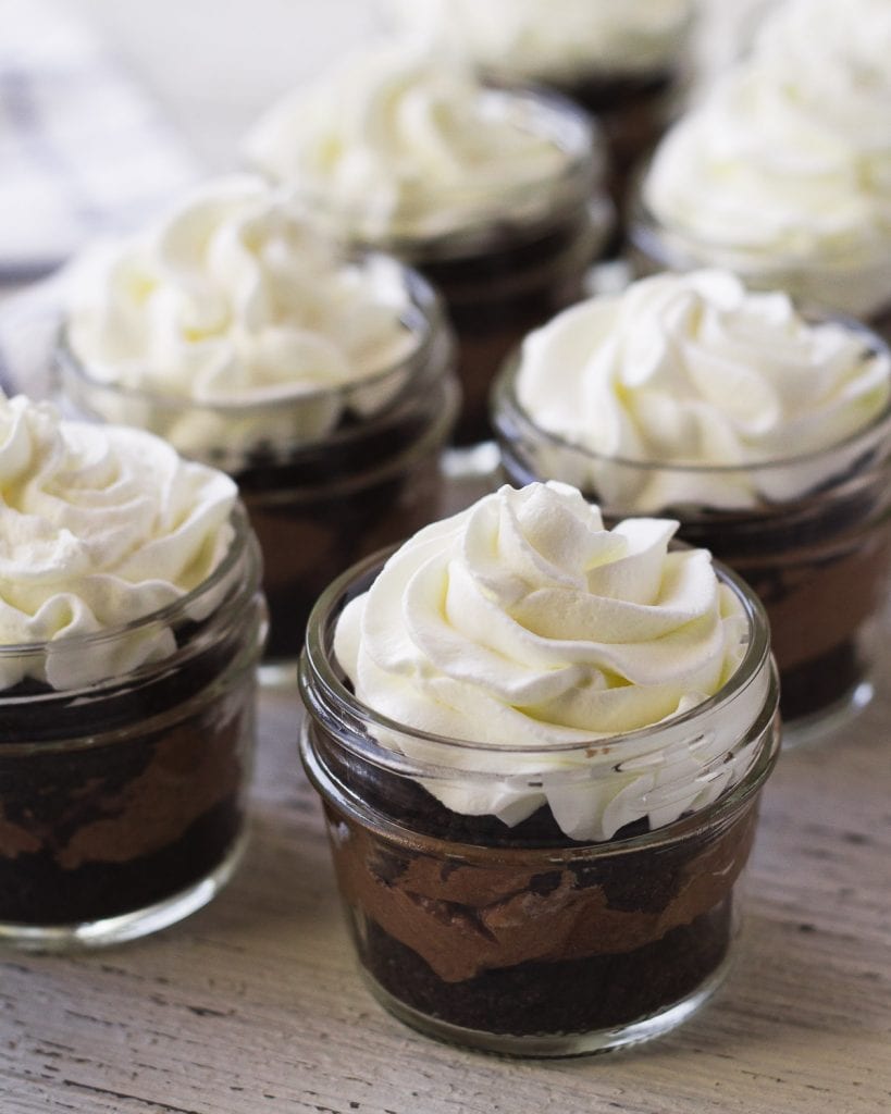
<path id="1" fill-rule="evenodd" d="M 393 21 L 487 70 L 572 81 L 659 69 L 674 59 L 691 0 L 390 0 Z"/>

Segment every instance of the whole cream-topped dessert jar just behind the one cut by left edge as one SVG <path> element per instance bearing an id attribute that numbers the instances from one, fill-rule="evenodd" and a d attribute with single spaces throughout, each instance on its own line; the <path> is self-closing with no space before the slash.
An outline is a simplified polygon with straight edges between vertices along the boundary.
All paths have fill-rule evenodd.
<path id="1" fill-rule="evenodd" d="M 210 182 L 72 282 L 61 389 L 238 483 L 264 558 L 267 661 L 332 575 L 439 515 L 458 405 L 428 283 L 344 254 L 260 178 Z"/>

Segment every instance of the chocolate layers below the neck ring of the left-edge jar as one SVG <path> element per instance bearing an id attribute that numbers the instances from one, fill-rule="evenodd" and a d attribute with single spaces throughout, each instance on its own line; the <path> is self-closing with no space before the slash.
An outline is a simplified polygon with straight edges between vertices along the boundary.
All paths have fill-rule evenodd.
<path id="1" fill-rule="evenodd" d="M 243 678 L 219 706 L 199 693 L 188 714 L 156 716 L 164 726 L 124 741 L 97 725 L 85 746 L 43 741 L 22 754 L 0 745 L 0 919 L 116 917 L 219 867 L 244 820 L 248 688 Z"/>

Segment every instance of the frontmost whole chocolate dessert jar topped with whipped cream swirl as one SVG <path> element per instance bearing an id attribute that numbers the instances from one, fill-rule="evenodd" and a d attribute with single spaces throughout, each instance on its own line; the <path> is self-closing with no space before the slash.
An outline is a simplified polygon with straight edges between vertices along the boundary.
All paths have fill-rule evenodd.
<path id="1" fill-rule="evenodd" d="M 362 974 L 422 1032 L 609 1048 L 725 974 L 776 678 L 757 599 L 676 526 L 503 487 L 314 609 L 304 764 Z"/>

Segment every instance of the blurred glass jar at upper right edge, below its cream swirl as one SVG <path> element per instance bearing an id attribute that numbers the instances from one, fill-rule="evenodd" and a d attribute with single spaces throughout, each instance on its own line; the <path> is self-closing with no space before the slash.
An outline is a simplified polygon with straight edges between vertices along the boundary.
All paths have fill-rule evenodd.
<path id="1" fill-rule="evenodd" d="M 659 271 L 726 267 L 750 290 L 786 291 L 802 305 L 864 322 L 891 341 L 891 254 L 821 247 L 795 255 L 771 254 L 746 242 L 709 242 L 660 219 L 644 196 L 646 173 L 635 183 L 629 214 L 628 256 L 637 276 Z"/>

